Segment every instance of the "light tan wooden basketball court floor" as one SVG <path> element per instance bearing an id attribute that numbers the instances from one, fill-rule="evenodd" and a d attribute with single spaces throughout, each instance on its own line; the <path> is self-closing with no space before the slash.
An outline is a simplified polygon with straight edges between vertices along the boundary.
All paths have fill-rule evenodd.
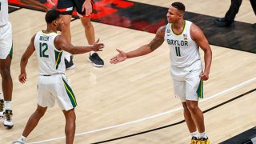
<path id="1" fill-rule="evenodd" d="M 168 8 L 174 1 L 129 2 Z M 230 6 L 228 0 L 180 2 L 185 4 L 186 11 L 216 18 L 223 17 Z M 147 11 L 142 10 L 141 13 Z M 10 13 L 14 40 L 11 66 L 14 127 L 6 130 L 0 126 L 0 143 L 8 144 L 17 140 L 36 109 L 36 56 L 33 54 L 28 62 L 27 82 L 23 85 L 18 82 L 19 62 L 30 38 L 38 30 L 46 29 L 44 16 L 44 12 L 25 8 Z M 244 0 L 235 20 L 253 24 L 255 19 L 249 0 Z M 74 143 L 189 143 L 190 133 L 184 122 L 182 105 L 174 98 L 166 43 L 152 54 L 111 65 L 110 58 L 118 54 L 115 49 L 134 50 L 150 42 L 154 34 L 101 22 L 93 24 L 96 38 L 100 38 L 100 42 L 106 46 L 98 53 L 105 66 L 95 68 L 87 61 L 88 54 L 79 54 L 74 56 L 75 69 L 66 71 L 78 102 Z M 74 45 L 87 45 L 79 19 L 71 22 L 71 33 Z M 213 51 L 210 79 L 204 82 L 205 98 L 199 101 L 199 106 L 204 111 L 206 134 L 210 142 L 221 143 L 256 126 L 256 56 L 246 52 L 246 47 L 242 46 L 242 50 L 210 46 Z M 64 126 L 65 118 L 56 104 L 47 110 L 26 142 L 65 143 Z"/>

